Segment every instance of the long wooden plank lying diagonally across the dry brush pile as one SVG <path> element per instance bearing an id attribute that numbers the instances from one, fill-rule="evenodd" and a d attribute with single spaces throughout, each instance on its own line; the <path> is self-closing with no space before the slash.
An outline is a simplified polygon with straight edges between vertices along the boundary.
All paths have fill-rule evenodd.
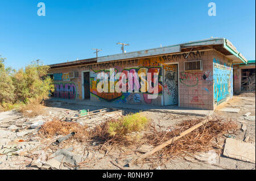
<path id="1" fill-rule="evenodd" d="M 152 149 L 151 151 L 148 151 L 147 153 L 141 155 L 141 157 L 138 157 L 138 158 L 135 158 L 134 160 L 132 160 L 132 161 L 129 163 L 129 165 L 132 165 L 132 164 L 135 163 L 135 162 L 141 161 L 142 159 L 144 159 L 144 158 L 146 158 L 146 157 L 148 157 L 148 156 L 154 154 L 156 151 L 159 151 L 159 150 L 163 149 L 164 147 L 166 147 L 166 146 L 172 144 L 174 141 L 176 141 L 176 140 L 178 140 L 179 138 L 185 136 L 186 134 L 188 134 L 188 133 L 194 131 L 196 128 L 201 127 L 201 125 L 204 125 L 205 123 L 208 123 L 208 121 L 209 121 L 209 119 L 206 119 L 206 120 L 204 120 L 204 121 L 201 121 L 201 123 L 196 124 L 196 125 L 194 125 L 193 127 L 187 129 L 186 131 L 180 133 L 179 136 L 173 137 L 173 138 L 171 138 L 170 140 L 164 142 L 163 144 L 156 146 L 156 147 L 155 147 L 154 149 Z"/>

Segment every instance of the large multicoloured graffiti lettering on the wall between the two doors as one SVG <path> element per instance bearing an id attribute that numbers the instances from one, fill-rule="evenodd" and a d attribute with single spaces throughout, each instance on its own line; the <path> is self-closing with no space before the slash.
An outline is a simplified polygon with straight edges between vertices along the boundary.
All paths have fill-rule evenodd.
<path id="1" fill-rule="evenodd" d="M 113 76 L 113 73 L 115 76 Z M 126 99 L 138 102 L 141 101 L 140 94 L 143 93 L 145 103 L 152 102 L 151 96 L 148 95 L 162 94 L 163 86 L 160 81 L 161 68 L 159 67 L 129 68 L 123 69 L 120 72 L 120 75 L 118 75 L 117 73 L 118 69 L 115 69 L 113 72 L 110 72 L 110 70 L 106 69 L 98 71 L 91 70 L 90 93 L 108 102 L 112 102 L 114 100 L 119 101 L 120 99 L 123 100 L 123 102 L 126 102 Z M 151 73 L 151 77 L 147 76 L 146 78 L 147 73 Z M 157 76 L 154 76 L 154 73 Z M 107 91 L 99 92 L 97 91 L 97 87 L 99 86 L 101 81 L 97 79 L 97 77 L 102 77 L 102 79 L 105 79 L 104 77 L 107 77 L 108 80 L 105 79 L 106 81 L 109 82 L 112 79 L 114 83 L 108 83 L 108 87 L 105 87 Z M 100 86 L 104 87 L 104 85 Z M 113 92 L 110 90 L 113 90 Z M 130 95 L 131 92 L 141 93 L 137 95 Z"/>

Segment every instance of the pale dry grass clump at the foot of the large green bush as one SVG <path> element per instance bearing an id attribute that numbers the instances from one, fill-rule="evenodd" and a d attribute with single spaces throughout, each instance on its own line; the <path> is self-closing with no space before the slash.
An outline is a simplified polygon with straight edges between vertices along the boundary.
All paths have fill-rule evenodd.
<path id="1" fill-rule="evenodd" d="M 46 113 L 45 107 L 38 102 L 30 102 L 28 104 L 22 104 L 17 107 L 16 110 L 23 114 L 25 117 L 35 117 L 44 115 Z"/>

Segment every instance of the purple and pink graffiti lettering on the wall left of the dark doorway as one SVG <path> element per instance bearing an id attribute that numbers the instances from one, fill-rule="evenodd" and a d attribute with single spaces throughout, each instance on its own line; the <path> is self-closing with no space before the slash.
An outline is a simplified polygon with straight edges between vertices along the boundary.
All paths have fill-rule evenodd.
<path id="1" fill-rule="evenodd" d="M 55 98 L 76 99 L 76 85 L 74 82 L 55 82 Z"/>

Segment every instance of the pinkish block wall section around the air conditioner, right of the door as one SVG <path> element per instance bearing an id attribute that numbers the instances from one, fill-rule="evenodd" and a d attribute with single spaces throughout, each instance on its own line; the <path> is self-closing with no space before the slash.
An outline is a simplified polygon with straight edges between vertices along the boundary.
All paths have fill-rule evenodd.
<path id="1" fill-rule="evenodd" d="M 180 107 L 213 110 L 213 51 L 183 56 L 179 64 Z M 203 70 L 184 71 L 184 61 L 202 60 Z"/>

